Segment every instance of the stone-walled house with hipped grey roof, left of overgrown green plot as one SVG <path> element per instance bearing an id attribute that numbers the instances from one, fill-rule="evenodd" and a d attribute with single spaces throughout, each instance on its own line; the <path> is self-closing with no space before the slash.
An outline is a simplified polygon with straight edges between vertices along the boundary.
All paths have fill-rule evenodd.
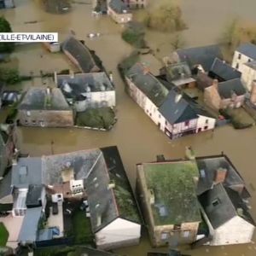
<path id="1" fill-rule="evenodd" d="M 24 126 L 73 126 L 73 109 L 58 88 L 31 88 L 20 102 L 18 122 Z"/>

